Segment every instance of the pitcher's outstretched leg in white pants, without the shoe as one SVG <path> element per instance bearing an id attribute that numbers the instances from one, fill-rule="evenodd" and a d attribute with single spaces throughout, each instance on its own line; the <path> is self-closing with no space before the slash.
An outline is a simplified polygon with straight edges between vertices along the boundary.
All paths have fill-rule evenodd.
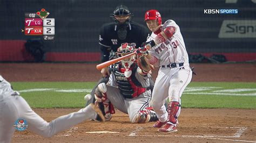
<path id="1" fill-rule="evenodd" d="M 19 102 L 16 102 L 16 108 L 21 109 L 21 111 L 19 111 L 19 117 L 27 121 L 30 131 L 42 135 L 45 138 L 50 138 L 60 131 L 67 130 L 84 120 L 95 119 L 97 116 L 92 106 L 86 106 L 86 108 L 80 109 L 78 112 L 60 116 L 48 123 L 38 116 L 21 96 L 19 96 L 18 101 Z"/>

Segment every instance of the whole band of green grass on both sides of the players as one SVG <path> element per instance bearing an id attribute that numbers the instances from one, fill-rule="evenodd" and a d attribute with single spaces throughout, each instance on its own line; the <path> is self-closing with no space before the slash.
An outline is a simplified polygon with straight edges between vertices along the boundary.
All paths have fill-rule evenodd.
<path id="1" fill-rule="evenodd" d="M 92 89 L 95 82 L 12 82 L 15 90 L 44 89 L 48 91 L 21 92 L 32 108 L 82 108 L 84 95 L 89 92 L 59 92 L 56 90 Z M 204 90 L 189 91 L 194 89 Z M 212 88 L 208 88 L 212 87 Z M 216 90 L 252 89 L 252 91 L 220 92 Z M 255 89 L 255 90 L 254 90 Z M 207 93 L 207 94 L 204 94 Z M 222 95 L 216 95 L 222 94 Z M 231 95 L 226 95 L 231 94 Z M 237 95 L 233 95 L 237 94 Z M 251 95 L 250 95 L 251 94 Z M 256 83 L 191 82 L 181 97 L 183 108 L 256 109 Z"/>

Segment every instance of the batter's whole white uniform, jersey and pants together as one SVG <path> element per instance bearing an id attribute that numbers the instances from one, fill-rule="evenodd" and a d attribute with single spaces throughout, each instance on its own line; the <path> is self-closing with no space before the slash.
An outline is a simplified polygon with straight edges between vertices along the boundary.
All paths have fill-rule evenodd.
<path id="1" fill-rule="evenodd" d="M 165 122 L 168 117 L 164 106 L 166 99 L 169 98 L 170 102 L 179 102 L 179 104 L 181 104 L 181 95 L 192 78 L 192 71 L 188 63 L 188 54 L 183 37 L 180 33 L 180 28 L 173 20 L 167 20 L 162 25 L 161 30 L 163 31 L 164 28 L 168 26 L 176 28 L 172 37 L 152 47 L 149 51 L 160 61 L 160 65 L 155 66 L 161 66 L 154 84 L 151 99 L 152 107 L 161 122 Z M 157 35 L 153 32 L 147 41 L 154 40 L 156 37 Z M 170 63 L 184 64 L 176 64 L 177 67 L 170 68 Z M 167 65 L 169 65 L 169 67 Z M 179 116 L 180 109 L 181 108 L 179 108 L 176 117 Z"/>

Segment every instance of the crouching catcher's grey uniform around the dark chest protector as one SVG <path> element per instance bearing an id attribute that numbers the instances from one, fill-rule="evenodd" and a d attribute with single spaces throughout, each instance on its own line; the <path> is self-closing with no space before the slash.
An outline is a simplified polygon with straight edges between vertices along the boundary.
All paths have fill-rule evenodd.
<path id="1" fill-rule="evenodd" d="M 142 76 L 138 73 L 139 67 L 136 67 L 137 70 L 133 70 L 134 76 L 137 81 L 142 85 L 143 88 L 148 88 L 150 85 L 149 82 L 149 74 Z M 120 89 L 118 88 L 117 81 L 123 80 L 128 81 L 127 78 L 124 76 L 124 73 L 120 71 L 120 76 L 115 75 L 113 72 L 110 75 L 109 82 L 107 83 L 107 98 L 110 102 L 120 111 L 127 113 L 129 115 L 130 120 L 134 118 L 134 116 L 138 113 L 138 111 L 145 110 L 151 106 L 151 91 L 149 88 L 143 92 L 142 94 L 138 95 L 138 97 L 134 98 L 125 98 L 124 95 L 121 93 Z M 122 76 L 123 74 L 123 76 Z M 117 79 L 118 78 L 118 79 Z"/>

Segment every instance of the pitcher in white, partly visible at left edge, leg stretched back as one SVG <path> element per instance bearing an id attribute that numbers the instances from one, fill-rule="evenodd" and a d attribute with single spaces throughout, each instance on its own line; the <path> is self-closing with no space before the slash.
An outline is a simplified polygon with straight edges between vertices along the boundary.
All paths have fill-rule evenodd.
<path id="1" fill-rule="evenodd" d="M 68 115 L 58 117 L 50 123 L 37 115 L 19 96 L 19 92 L 12 90 L 11 84 L 0 75 L 0 142 L 10 142 L 15 132 L 15 120 L 23 118 L 28 123 L 28 130 L 50 138 L 87 119 L 100 117 L 104 120 L 102 112 L 93 104 Z"/>

